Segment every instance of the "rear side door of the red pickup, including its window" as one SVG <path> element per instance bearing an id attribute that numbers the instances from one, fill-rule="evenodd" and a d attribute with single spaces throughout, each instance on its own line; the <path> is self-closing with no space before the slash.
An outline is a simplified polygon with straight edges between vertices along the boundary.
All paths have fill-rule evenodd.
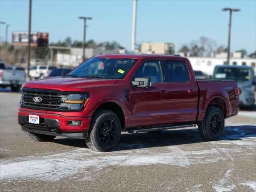
<path id="1" fill-rule="evenodd" d="M 164 66 L 170 86 L 170 122 L 192 122 L 196 120 L 198 85 L 187 60 L 166 59 Z"/>

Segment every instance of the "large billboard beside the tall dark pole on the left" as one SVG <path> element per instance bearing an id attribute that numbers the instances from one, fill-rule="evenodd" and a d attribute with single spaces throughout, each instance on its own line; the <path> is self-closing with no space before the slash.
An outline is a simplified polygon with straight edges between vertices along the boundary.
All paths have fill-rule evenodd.
<path id="1" fill-rule="evenodd" d="M 48 46 L 48 33 L 31 32 L 31 46 Z M 28 32 L 12 32 L 12 43 L 14 46 L 28 46 Z"/>

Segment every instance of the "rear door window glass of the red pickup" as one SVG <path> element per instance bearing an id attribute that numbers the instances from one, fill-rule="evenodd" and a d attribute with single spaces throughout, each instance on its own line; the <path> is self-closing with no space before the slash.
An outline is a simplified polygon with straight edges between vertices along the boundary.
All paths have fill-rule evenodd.
<path id="1" fill-rule="evenodd" d="M 168 82 L 188 82 L 190 75 L 184 61 L 166 60 L 166 73 L 169 74 Z"/>

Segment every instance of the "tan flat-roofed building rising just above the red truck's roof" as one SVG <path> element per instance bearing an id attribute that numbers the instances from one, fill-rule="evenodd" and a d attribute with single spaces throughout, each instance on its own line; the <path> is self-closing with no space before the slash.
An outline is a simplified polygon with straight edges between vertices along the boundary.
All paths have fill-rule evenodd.
<path id="1" fill-rule="evenodd" d="M 142 54 L 173 55 L 174 54 L 174 44 L 143 42 L 141 44 L 141 53 Z"/>

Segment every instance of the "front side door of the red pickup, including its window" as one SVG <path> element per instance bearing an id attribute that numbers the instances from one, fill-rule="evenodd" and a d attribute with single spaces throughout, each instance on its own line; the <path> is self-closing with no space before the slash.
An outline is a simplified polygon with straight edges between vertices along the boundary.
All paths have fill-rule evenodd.
<path id="1" fill-rule="evenodd" d="M 170 88 L 164 82 L 160 60 L 146 60 L 140 64 L 132 80 L 150 78 L 148 88 L 132 87 L 130 102 L 132 114 L 131 126 L 152 126 L 166 124 L 169 121 Z"/>

